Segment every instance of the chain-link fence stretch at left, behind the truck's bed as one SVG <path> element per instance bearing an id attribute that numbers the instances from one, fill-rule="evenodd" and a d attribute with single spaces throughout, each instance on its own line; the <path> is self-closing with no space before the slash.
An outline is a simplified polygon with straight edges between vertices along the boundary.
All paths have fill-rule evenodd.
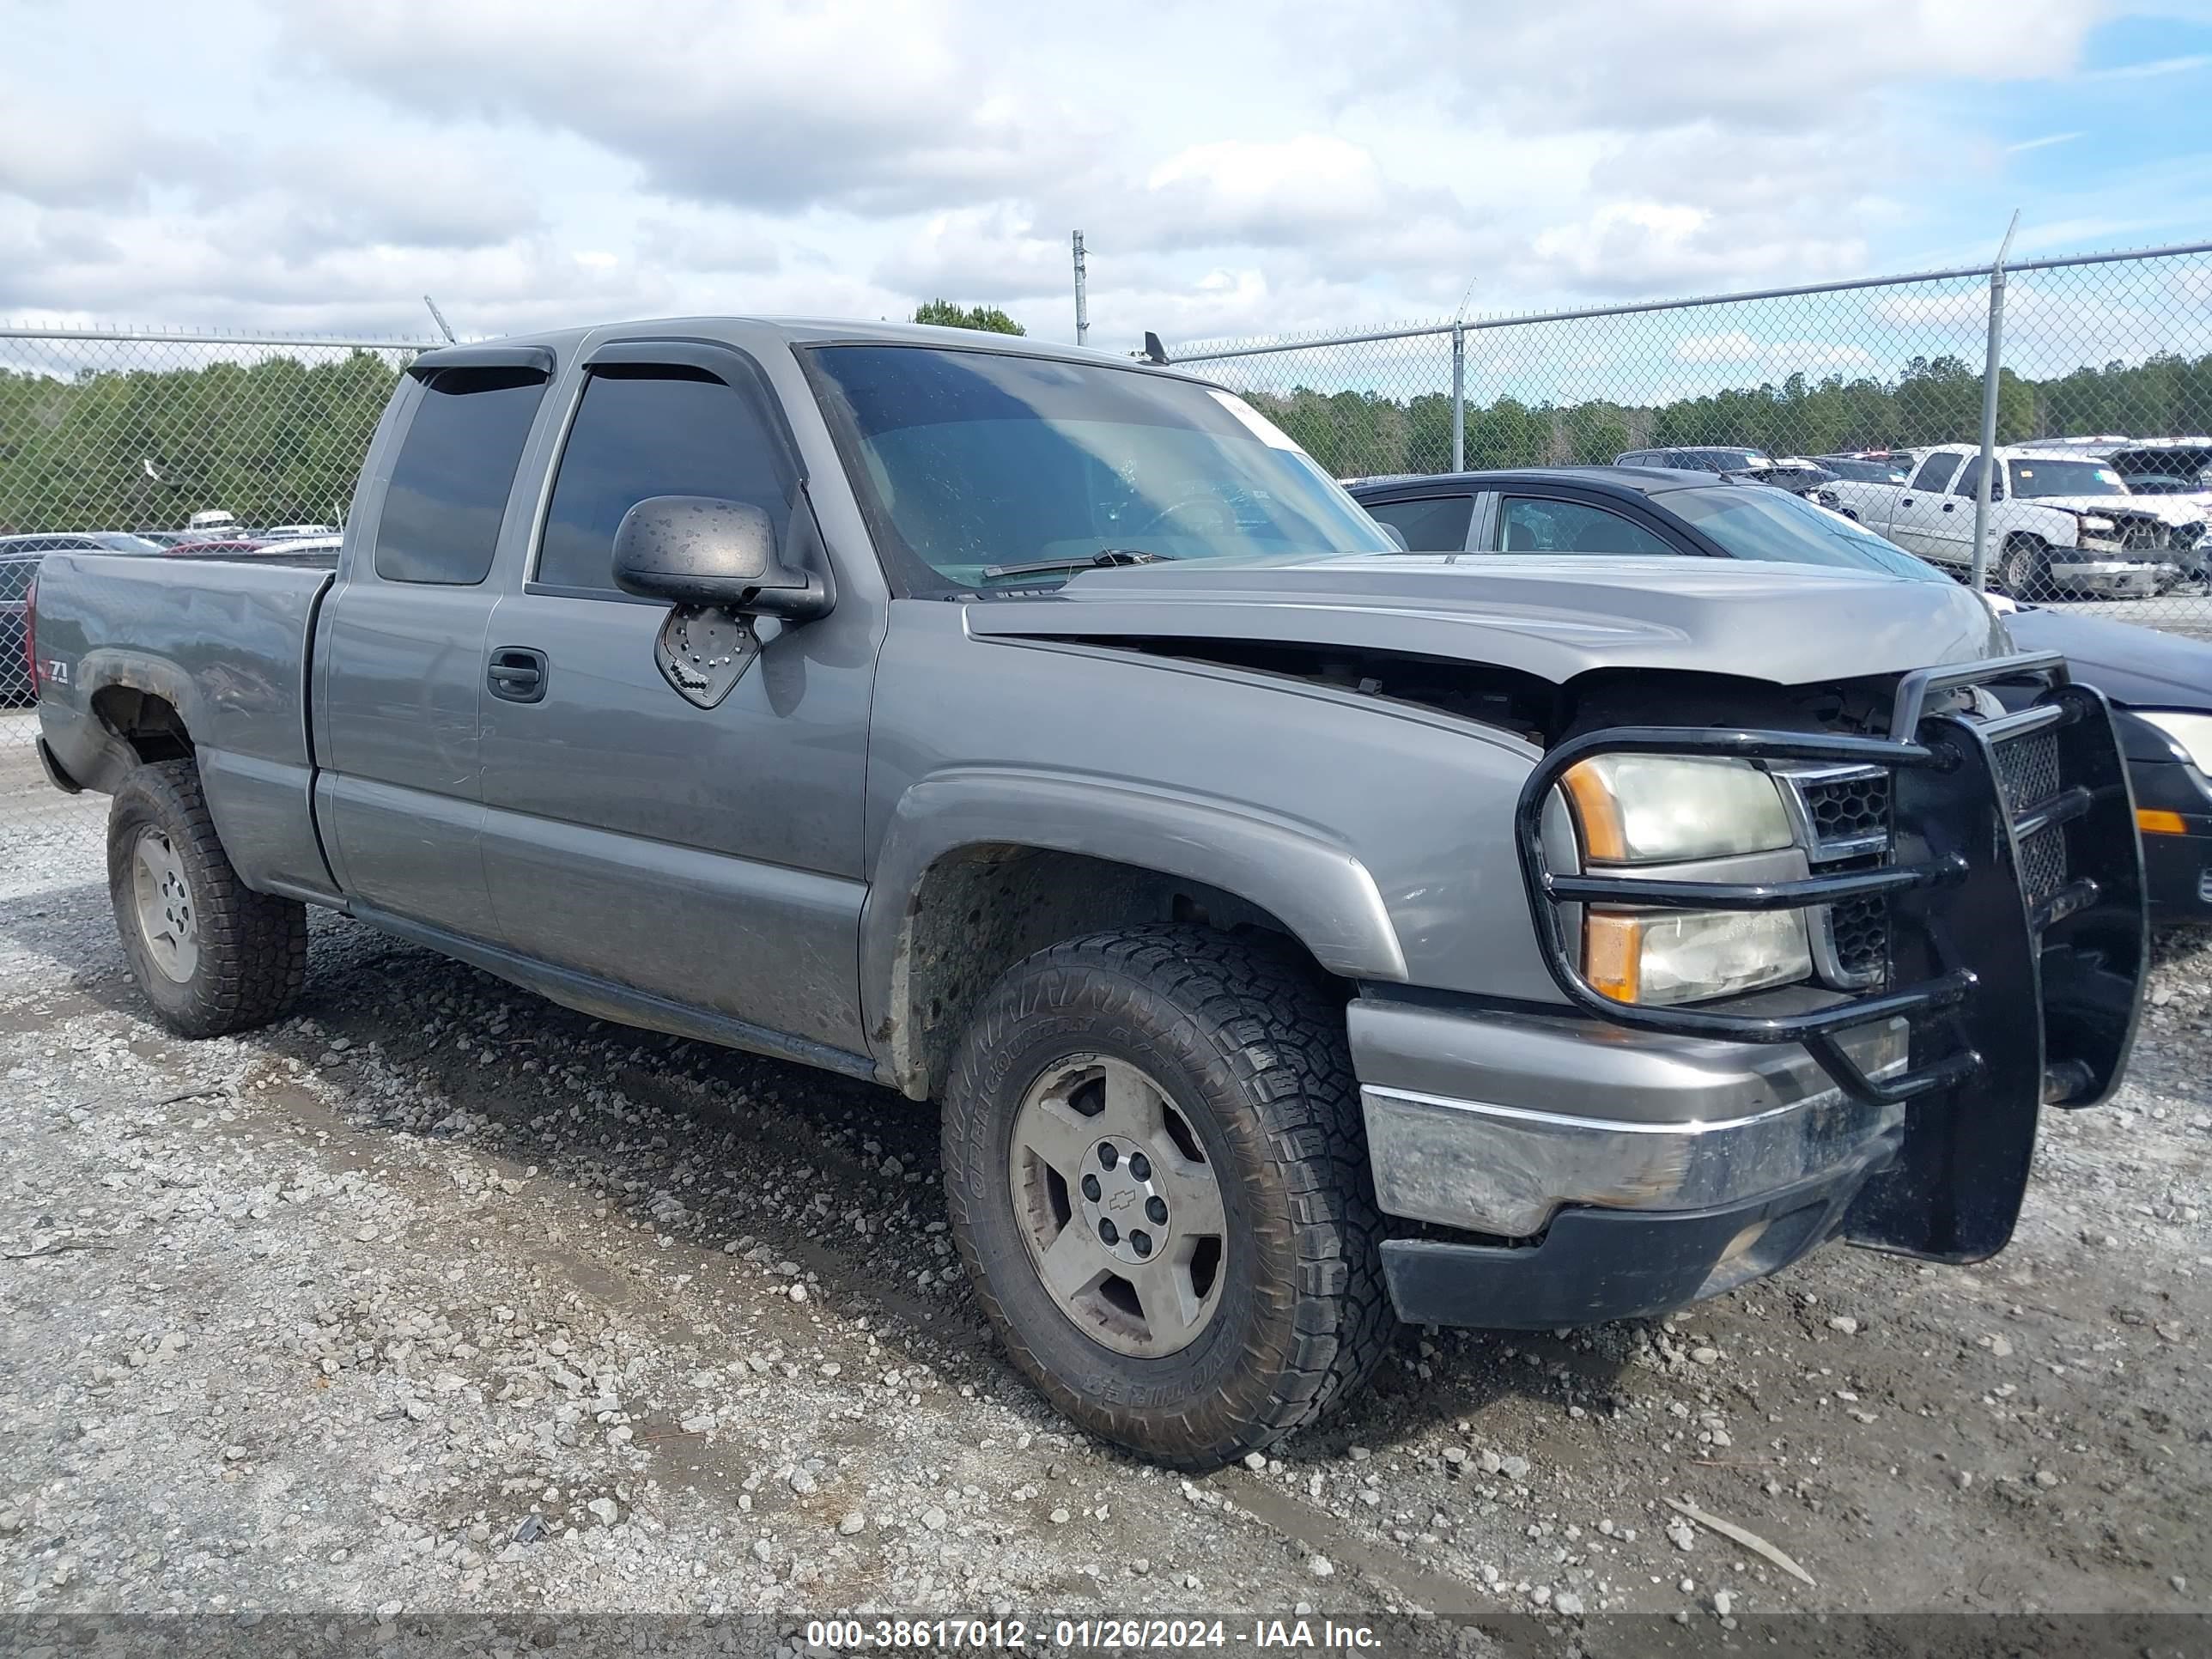
<path id="1" fill-rule="evenodd" d="M 429 345 L 0 327 L 0 841 L 18 854 L 0 880 L 97 878 L 86 825 L 106 805 L 55 792 L 38 765 L 38 562 L 341 526 L 385 400 Z"/>

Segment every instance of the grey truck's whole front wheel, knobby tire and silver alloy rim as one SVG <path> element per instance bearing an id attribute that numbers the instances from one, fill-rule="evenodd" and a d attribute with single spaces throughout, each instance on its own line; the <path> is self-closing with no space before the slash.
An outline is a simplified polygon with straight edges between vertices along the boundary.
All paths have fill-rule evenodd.
<path id="1" fill-rule="evenodd" d="M 1343 1006 L 1287 951 L 1135 927 L 1018 962 L 953 1064 L 945 1181 L 1015 1365 L 1159 1462 L 1270 1447 L 1389 1343 Z"/>

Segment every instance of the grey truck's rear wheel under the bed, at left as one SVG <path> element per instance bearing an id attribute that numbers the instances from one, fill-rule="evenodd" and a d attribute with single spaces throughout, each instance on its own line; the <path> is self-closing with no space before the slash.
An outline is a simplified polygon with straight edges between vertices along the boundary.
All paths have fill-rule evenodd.
<path id="1" fill-rule="evenodd" d="M 239 880 L 190 761 L 115 792 L 108 900 L 139 991 L 186 1037 L 268 1024 L 307 980 L 307 907 Z"/>

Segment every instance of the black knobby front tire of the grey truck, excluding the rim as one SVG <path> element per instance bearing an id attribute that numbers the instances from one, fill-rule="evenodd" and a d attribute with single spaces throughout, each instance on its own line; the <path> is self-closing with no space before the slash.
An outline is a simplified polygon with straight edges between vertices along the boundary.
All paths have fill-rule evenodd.
<path id="1" fill-rule="evenodd" d="M 1223 1194 L 1225 1276 L 1190 1347 L 1137 1358 L 1071 1321 L 1015 1217 L 1009 1146 L 1029 1086 L 1077 1053 L 1146 1071 Z M 945 1097 L 945 1188 L 975 1296 L 1013 1363 L 1086 1431 L 1177 1469 L 1263 1451 L 1374 1371 L 1383 1283 L 1343 1000 L 1287 949 L 1130 927 L 1013 964 L 975 1009 Z"/>

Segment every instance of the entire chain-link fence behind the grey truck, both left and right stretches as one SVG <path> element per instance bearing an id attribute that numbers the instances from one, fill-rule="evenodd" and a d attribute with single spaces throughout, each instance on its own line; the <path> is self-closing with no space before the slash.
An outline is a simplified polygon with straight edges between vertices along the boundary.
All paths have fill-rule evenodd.
<path id="1" fill-rule="evenodd" d="M 24 588 L 42 553 L 341 524 L 385 398 L 429 345 L 0 327 L 0 841 L 77 838 L 97 807 L 53 792 L 33 750 Z M 1991 400 L 1993 440 L 2035 451 L 1989 473 L 1991 582 L 2212 639 L 2212 243 L 1175 358 L 1338 478 L 1803 460 L 1834 478 L 1770 476 L 1962 577 L 1982 473 L 1966 451 Z M 1960 449 L 1942 484 L 1900 487 L 1942 447 Z M 2084 566 L 2110 566 L 2104 586 Z"/>

